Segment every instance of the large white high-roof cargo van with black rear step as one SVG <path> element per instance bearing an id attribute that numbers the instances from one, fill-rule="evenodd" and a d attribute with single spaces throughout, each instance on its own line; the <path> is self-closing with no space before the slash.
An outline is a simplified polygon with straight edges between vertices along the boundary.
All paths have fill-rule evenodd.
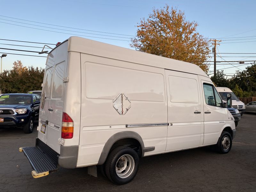
<path id="1" fill-rule="evenodd" d="M 81 37 L 49 52 L 42 91 L 36 147 L 20 148 L 35 178 L 58 166 L 88 167 L 96 176 L 100 165 L 125 184 L 140 157 L 209 145 L 228 153 L 236 134 L 195 64 Z"/>

